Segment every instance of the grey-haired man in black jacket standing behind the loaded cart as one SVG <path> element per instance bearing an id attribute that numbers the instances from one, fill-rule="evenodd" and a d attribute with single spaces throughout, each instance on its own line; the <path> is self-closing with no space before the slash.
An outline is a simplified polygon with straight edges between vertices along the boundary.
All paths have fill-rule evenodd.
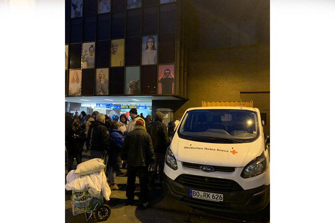
<path id="1" fill-rule="evenodd" d="M 96 115 L 96 121 L 91 122 L 87 133 L 87 140 L 90 146 L 91 159 L 102 158 L 104 151 L 110 151 L 109 131 L 105 125 L 105 115 L 99 113 Z M 107 166 L 108 155 L 105 156 L 104 164 Z M 106 167 L 105 167 L 106 172 Z"/>

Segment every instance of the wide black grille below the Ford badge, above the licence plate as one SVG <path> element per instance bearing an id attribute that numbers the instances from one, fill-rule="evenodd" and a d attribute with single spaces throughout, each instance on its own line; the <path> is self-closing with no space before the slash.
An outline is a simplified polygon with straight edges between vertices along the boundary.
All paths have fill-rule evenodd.
<path id="1" fill-rule="evenodd" d="M 221 193 L 243 191 L 243 188 L 236 181 L 230 179 L 181 174 L 177 177 L 176 182 L 194 190 L 198 189 Z"/>

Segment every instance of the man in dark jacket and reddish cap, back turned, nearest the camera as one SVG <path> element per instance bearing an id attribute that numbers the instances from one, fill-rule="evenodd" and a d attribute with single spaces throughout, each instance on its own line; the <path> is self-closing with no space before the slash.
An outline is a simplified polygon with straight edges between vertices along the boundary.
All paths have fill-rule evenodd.
<path id="1" fill-rule="evenodd" d="M 121 159 L 127 161 L 127 189 L 128 204 L 132 204 L 135 192 L 137 174 L 140 178 L 140 199 L 143 206 L 149 205 L 148 166 L 155 160 L 150 135 L 145 131 L 144 121 L 136 121 L 134 130 L 124 138 L 121 150 Z"/>

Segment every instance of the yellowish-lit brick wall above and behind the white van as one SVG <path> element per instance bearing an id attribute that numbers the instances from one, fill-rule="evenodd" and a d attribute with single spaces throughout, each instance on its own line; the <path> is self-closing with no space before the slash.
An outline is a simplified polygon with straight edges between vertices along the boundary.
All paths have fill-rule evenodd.
<path id="1" fill-rule="evenodd" d="M 189 100 L 174 119 L 202 101 L 238 101 L 241 91 L 270 91 L 270 44 L 191 51 Z"/>

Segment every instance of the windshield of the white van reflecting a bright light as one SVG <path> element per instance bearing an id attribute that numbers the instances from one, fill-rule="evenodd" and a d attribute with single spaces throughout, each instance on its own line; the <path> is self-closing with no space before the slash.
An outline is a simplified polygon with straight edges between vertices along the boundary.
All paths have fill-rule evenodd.
<path id="1" fill-rule="evenodd" d="M 259 136 L 257 114 L 242 109 L 190 110 L 178 128 L 178 136 L 217 143 L 251 142 Z"/>

